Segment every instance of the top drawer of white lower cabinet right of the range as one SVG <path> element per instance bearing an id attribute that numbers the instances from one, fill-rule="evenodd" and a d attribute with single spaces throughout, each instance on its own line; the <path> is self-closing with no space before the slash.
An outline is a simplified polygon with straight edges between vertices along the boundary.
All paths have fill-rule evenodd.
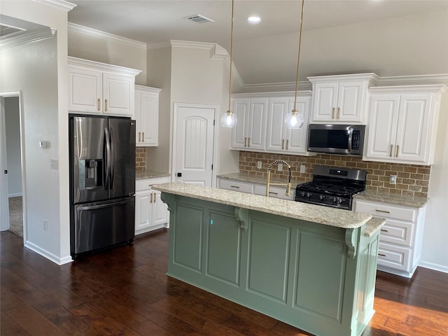
<path id="1" fill-rule="evenodd" d="M 401 221 L 416 221 L 416 209 L 409 207 L 395 207 L 391 204 L 384 204 L 379 202 L 364 202 L 356 200 L 355 211 L 365 212 L 374 216 L 383 218 L 399 219 Z"/>

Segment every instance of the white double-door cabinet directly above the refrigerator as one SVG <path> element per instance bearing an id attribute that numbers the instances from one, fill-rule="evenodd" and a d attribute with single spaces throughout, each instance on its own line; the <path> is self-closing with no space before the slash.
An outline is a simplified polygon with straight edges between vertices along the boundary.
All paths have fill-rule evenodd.
<path id="1" fill-rule="evenodd" d="M 69 57 L 69 111 L 134 116 L 134 83 L 140 72 Z"/>

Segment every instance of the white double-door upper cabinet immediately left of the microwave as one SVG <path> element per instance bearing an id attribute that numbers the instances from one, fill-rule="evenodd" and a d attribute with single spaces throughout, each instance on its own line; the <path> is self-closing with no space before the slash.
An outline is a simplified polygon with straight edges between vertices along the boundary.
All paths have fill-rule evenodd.
<path id="1" fill-rule="evenodd" d="M 309 122 L 309 94 L 297 97 L 296 108 L 304 118 L 303 127 L 296 130 L 286 128 L 283 120 L 294 109 L 294 97 L 275 97 L 269 99 L 267 122 L 268 152 L 309 155 L 307 152 L 307 129 Z"/>

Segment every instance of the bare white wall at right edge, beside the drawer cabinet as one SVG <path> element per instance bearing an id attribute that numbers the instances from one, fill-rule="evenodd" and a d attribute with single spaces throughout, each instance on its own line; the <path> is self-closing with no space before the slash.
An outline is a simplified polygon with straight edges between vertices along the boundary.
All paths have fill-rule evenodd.
<path id="1" fill-rule="evenodd" d="M 420 265 L 448 272 L 448 92 L 443 98 L 435 162 L 429 179 L 430 201 L 426 210 Z"/>

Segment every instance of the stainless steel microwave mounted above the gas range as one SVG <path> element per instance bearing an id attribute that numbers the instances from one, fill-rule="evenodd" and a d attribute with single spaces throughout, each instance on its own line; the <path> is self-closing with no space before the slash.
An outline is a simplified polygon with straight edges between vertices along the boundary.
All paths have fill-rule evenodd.
<path id="1" fill-rule="evenodd" d="M 363 155 L 365 125 L 308 125 L 308 151 Z"/>

